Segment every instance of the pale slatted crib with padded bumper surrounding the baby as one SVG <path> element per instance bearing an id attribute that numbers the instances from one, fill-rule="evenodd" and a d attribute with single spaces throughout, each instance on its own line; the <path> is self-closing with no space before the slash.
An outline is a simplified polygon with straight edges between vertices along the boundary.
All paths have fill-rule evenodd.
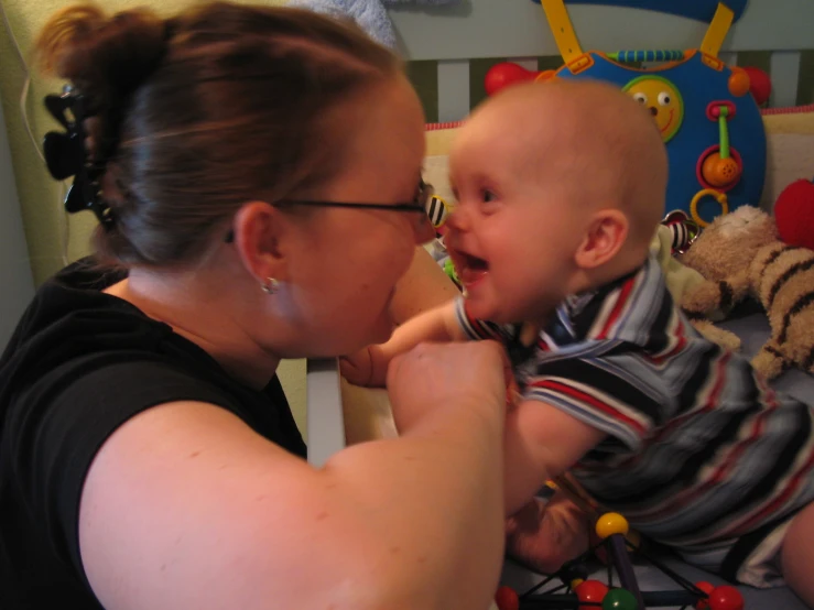
<path id="1" fill-rule="evenodd" d="M 647 2 L 623 1 L 621 4 Z M 734 2 L 738 4 L 738 2 Z M 707 24 L 674 14 L 619 7 L 568 4 L 568 14 L 584 48 L 692 48 Z M 427 116 L 427 179 L 442 196 L 445 155 L 458 122 L 486 97 L 484 78 L 498 63 L 511 61 L 528 70 L 563 65 L 557 43 L 532 0 L 464 0 L 453 7 L 403 8 L 391 11 L 408 73 Z M 759 203 L 767 210 L 782 188 L 814 175 L 814 3 L 805 0 L 749 0 L 720 47 L 728 65 L 752 65 L 771 77 L 772 92 L 760 109 L 767 134 L 767 172 Z M 724 326 L 738 334 L 748 355 L 769 334 L 762 313 L 736 315 Z M 775 386 L 814 403 L 814 378 L 800 371 L 781 375 Z M 347 384 L 334 361 L 310 361 L 307 369 L 310 460 L 324 461 L 346 444 L 397 434 L 387 395 Z M 723 580 L 668 558 L 670 567 L 691 581 Z M 676 589 L 662 571 L 636 566 L 643 590 Z M 606 580 L 606 576 L 596 576 Z M 519 592 L 541 577 L 507 560 L 502 582 Z M 785 610 L 804 606 L 788 589 L 740 588 L 746 608 Z M 676 607 L 677 608 L 677 607 Z"/>

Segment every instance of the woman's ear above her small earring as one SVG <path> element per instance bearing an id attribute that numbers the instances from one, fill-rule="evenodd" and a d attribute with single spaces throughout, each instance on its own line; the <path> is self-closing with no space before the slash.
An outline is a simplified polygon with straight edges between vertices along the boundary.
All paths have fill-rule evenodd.
<path id="1" fill-rule="evenodd" d="M 285 280 L 286 221 L 279 209 L 264 201 L 243 204 L 235 215 L 232 231 L 235 248 L 258 282 Z"/>

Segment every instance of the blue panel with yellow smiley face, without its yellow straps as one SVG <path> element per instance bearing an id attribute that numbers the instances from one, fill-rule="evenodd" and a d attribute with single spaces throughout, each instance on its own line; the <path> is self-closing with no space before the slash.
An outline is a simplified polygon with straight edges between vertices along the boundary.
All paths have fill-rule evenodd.
<path id="1" fill-rule="evenodd" d="M 642 89 L 638 95 L 645 97 L 645 94 L 651 94 L 648 104 L 651 105 L 654 115 L 656 101 L 652 99 L 653 97 L 658 97 L 659 102 L 666 101 L 674 107 L 674 115 L 670 115 L 673 117 L 672 123 L 665 122 L 662 129 L 670 157 L 665 211 L 682 210 L 692 216 L 691 201 L 698 196 L 698 216 L 703 220 L 712 221 L 720 214 L 721 207 L 710 190 L 726 194 L 730 211 L 741 205 L 757 205 L 760 201 L 766 172 L 763 122 L 758 105 L 748 91 L 740 96 L 730 91 L 732 70 L 729 67 L 717 59 L 708 58 L 710 63 L 717 63 L 719 69 L 709 67 L 699 52 L 680 63 L 648 70 L 618 64 L 600 53 L 589 55 L 594 63 L 588 68 L 575 75 L 567 66 L 563 66 L 556 76 L 610 81 L 628 88 L 628 92 L 633 97 L 637 97 L 636 90 Z M 663 79 L 671 83 L 674 89 L 671 90 Z M 676 92 L 679 95 L 675 95 Z M 735 109 L 735 117 L 727 121 L 727 128 L 731 156 L 735 160 L 740 159 L 742 173 L 729 187 L 702 182 L 698 174 L 699 161 L 704 161 L 710 148 L 720 145 L 719 124 L 707 117 L 710 102 L 728 104 Z M 661 115 L 656 116 L 656 122 L 661 120 L 660 117 Z M 668 121 L 668 115 L 664 121 Z M 707 194 L 699 195 L 703 190 L 707 190 Z"/>

